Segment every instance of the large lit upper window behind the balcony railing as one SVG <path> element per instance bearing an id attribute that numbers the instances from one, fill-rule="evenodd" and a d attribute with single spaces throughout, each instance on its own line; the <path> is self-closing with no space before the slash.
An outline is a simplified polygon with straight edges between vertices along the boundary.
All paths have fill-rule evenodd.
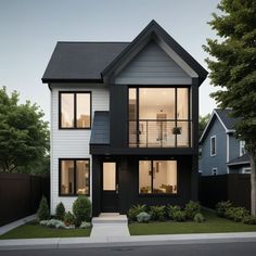
<path id="1" fill-rule="evenodd" d="M 191 145 L 189 88 L 129 88 L 129 146 Z"/>

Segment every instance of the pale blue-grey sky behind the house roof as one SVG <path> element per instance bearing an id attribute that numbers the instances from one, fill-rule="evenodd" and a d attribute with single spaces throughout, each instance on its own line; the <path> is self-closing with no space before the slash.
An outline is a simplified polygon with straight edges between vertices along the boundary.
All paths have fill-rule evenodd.
<path id="1" fill-rule="evenodd" d="M 0 0 L 0 86 L 41 106 L 50 118 L 50 91 L 41 77 L 56 41 L 131 41 L 155 20 L 205 68 L 202 44 L 215 37 L 207 22 L 219 0 Z M 209 80 L 200 113 L 216 106 Z"/>

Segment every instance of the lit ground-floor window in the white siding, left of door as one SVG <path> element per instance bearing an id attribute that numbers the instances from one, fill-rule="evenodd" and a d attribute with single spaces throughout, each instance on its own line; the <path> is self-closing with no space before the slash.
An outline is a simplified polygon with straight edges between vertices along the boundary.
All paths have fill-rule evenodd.
<path id="1" fill-rule="evenodd" d="M 90 194 L 90 161 L 60 159 L 60 195 Z"/>

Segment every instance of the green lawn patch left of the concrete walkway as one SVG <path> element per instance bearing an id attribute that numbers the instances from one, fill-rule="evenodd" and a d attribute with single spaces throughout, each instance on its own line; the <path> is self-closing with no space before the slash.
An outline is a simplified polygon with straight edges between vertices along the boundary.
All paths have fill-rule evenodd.
<path id="1" fill-rule="evenodd" d="M 0 240 L 4 239 L 41 239 L 41 238 L 77 238 L 89 236 L 91 229 L 53 229 L 35 223 L 26 223 L 16 229 L 0 235 Z"/>

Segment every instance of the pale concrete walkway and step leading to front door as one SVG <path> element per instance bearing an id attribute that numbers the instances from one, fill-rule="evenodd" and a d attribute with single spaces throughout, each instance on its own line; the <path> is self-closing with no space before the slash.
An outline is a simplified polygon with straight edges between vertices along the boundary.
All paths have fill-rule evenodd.
<path id="1" fill-rule="evenodd" d="M 130 236 L 126 215 L 101 214 L 92 218 L 91 238 Z"/>

